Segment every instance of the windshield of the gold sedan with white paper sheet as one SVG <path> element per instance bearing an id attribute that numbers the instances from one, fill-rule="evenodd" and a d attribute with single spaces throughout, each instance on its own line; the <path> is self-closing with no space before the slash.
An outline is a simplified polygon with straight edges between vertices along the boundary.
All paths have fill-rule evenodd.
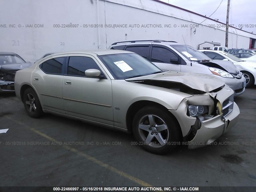
<path id="1" fill-rule="evenodd" d="M 135 53 L 101 55 L 99 58 L 115 79 L 127 79 L 163 72 L 150 61 Z"/>

